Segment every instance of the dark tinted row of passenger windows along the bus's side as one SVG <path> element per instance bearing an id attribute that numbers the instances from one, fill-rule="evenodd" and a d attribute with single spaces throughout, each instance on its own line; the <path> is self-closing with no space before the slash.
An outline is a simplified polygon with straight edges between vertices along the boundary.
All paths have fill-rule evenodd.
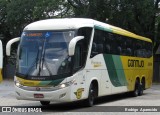
<path id="1" fill-rule="evenodd" d="M 95 29 L 91 58 L 101 53 L 149 58 L 152 43 Z"/>

